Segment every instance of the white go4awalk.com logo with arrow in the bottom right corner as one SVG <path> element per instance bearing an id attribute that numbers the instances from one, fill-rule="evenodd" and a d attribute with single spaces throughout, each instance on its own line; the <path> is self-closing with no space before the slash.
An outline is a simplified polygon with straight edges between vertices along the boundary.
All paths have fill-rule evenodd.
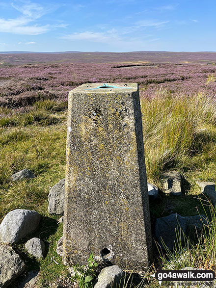
<path id="1" fill-rule="evenodd" d="M 162 267 L 151 276 L 159 281 L 160 286 L 162 281 L 203 283 L 214 281 L 216 278 L 213 270 L 162 270 Z"/>

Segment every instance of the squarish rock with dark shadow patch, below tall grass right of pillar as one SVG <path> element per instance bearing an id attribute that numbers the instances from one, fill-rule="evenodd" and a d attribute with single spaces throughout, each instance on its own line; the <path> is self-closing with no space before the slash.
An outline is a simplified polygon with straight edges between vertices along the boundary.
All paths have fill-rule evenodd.
<path id="1" fill-rule="evenodd" d="M 162 183 L 165 193 L 175 196 L 182 195 L 182 176 L 177 171 L 168 171 L 162 173 Z"/>

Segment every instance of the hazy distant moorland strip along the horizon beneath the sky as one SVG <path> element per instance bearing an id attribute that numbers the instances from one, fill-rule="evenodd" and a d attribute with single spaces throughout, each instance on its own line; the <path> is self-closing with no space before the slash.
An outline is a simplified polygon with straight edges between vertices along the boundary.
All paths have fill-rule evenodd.
<path id="1" fill-rule="evenodd" d="M 63 64 L 63 63 L 178 63 L 216 65 L 216 52 L 0 52 L 0 67 L 24 64 Z"/>

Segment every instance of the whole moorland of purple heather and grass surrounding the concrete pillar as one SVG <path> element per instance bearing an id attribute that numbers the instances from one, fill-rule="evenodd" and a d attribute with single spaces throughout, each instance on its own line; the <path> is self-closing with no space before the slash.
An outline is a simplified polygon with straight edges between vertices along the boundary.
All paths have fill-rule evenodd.
<path id="1" fill-rule="evenodd" d="M 40 269 L 41 288 L 73 283 L 55 252 L 62 223 L 47 207 L 50 187 L 65 174 L 68 92 L 82 83 L 139 84 L 148 182 L 161 189 L 150 204 L 152 226 L 157 217 L 173 212 L 206 213 L 210 233 L 198 244 L 186 239 L 190 257 L 182 265 L 216 269 L 215 212 L 196 184 L 216 183 L 216 53 L 0 54 L 0 63 L 0 219 L 17 208 L 34 209 L 43 216 L 34 236 L 46 242 L 45 259 L 27 254 L 26 239 L 15 244 L 27 271 Z M 10 176 L 24 168 L 36 177 L 11 182 Z M 161 175 L 169 169 L 184 177 L 184 196 L 178 199 L 162 192 Z M 171 253 L 177 268 L 183 249 Z M 167 264 L 156 245 L 154 256 L 153 271 L 159 263 Z M 159 284 L 147 277 L 141 286 Z"/>

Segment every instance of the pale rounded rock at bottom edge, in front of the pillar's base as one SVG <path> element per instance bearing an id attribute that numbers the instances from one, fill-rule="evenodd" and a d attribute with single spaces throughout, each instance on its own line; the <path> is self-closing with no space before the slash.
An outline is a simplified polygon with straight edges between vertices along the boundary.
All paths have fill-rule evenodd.
<path id="1" fill-rule="evenodd" d="M 109 266 L 101 270 L 98 275 L 98 282 L 94 288 L 115 288 L 123 287 L 124 272 L 117 265 Z"/>

